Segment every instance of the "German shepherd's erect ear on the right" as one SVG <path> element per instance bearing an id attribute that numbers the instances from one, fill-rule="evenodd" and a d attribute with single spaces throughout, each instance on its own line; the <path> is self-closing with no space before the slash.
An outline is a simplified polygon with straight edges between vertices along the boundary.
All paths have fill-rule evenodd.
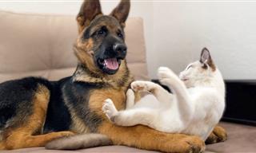
<path id="1" fill-rule="evenodd" d="M 111 16 L 118 19 L 122 26 L 125 26 L 126 19 L 130 11 L 130 0 L 122 0 L 118 6 L 111 12 Z"/>

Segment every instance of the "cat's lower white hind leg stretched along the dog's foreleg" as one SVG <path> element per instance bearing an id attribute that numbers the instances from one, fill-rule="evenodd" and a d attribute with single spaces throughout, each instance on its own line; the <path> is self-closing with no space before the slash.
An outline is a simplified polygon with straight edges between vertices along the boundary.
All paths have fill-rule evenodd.
<path id="1" fill-rule="evenodd" d="M 107 118 L 114 124 L 120 126 L 134 126 L 143 124 L 154 128 L 154 119 L 156 111 L 151 108 L 135 108 L 130 110 L 118 111 L 112 100 L 105 100 L 102 111 L 106 114 Z"/>

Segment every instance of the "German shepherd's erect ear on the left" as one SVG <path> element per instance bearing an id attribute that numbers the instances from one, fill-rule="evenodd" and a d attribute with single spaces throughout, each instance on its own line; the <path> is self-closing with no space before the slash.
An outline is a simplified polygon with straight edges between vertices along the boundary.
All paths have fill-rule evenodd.
<path id="1" fill-rule="evenodd" d="M 102 14 L 101 4 L 99 0 L 85 0 L 77 16 L 78 30 L 82 32 L 86 26 L 98 15 Z"/>

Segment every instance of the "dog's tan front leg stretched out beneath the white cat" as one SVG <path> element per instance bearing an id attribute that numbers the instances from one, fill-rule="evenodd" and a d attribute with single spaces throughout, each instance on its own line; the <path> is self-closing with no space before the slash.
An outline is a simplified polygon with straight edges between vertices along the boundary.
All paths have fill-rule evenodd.
<path id="1" fill-rule="evenodd" d="M 119 127 L 105 121 L 98 132 L 112 139 L 114 145 L 126 145 L 164 152 L 202 152 L 205 143 L 197 136 L 166 134 L 142 125 Z"/>

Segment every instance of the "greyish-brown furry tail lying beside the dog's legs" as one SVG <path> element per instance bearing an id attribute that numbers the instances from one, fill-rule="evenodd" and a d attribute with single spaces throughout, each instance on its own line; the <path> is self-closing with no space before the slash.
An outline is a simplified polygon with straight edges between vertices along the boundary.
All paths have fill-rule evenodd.
<path id="1" fill-rule="evenodd" d="M 55 139 L 46 144 L 46 149 L 74 150 L 109 145 L 113 145 L 113 143 L 106 135 L 90 133 Z"/>

